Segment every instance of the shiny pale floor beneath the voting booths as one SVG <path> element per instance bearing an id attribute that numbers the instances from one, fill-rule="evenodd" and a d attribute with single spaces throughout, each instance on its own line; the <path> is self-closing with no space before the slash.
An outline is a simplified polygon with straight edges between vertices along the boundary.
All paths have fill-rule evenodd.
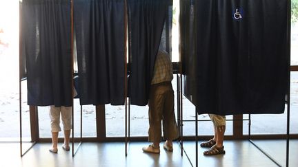
<path id="1" fill-rule="evenodd" d="M 277 160 L 281 166 L 286 166 L 286 142 L 285 140 L 256 141 L 258 146 Z M 161 143 L 162 144 L 162 143 Z M 195 142 L 183 142 L 185 151 L 190 157 L 190 161 L 185 153 L 181 156 L 179 144 L 175 142 L 174 152 L 168 153 L 161 150 L 160 155 L 143 153 L 141 148 L 147 146 L 148 142 L 130 142 L 128 145 L 128 155 L 125 156 L 125 144 L 123 142 L 105 143 L 83 143 L 79 147 L 77 154 L 72 157 L 71 152 L 60 149 L 58 154 L 48 151 L 50 143 L 38 143 L 28 151 L 26 155 L 20 157 L 19 143 L 0 143 L 0 166 L 195 166 Z M 30 144 L 23 144 L 23 149 Z M 261 151 L 247 140 L 226 141 L 226 155 L 212 157 L 203 156 L 205 148 L 199 148 L 198 166 L 222 166 L 222 167 L 246 167 L 246 166 L 277 166 Z M 298 140 L 290 141 L 290 166 L 298 164 Z"/>

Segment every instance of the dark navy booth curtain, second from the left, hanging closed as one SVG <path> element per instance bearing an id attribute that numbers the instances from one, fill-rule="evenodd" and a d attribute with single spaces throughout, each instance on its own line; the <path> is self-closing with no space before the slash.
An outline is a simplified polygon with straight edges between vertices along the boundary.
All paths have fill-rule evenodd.
<path id="1" fill-rule="evenodd" d="M 124 104 L 124 1 L 74 1 L 80 103 Z"/>

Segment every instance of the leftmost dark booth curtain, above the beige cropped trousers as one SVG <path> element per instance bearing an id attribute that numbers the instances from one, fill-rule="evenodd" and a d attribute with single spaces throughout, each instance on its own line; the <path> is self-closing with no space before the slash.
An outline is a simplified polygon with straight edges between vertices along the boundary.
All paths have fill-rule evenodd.
<path id="1" fill-rule="evenodd" d="M 23 0 L 21 9 L 28 105 L 70 107 L 70 1 Z"/>

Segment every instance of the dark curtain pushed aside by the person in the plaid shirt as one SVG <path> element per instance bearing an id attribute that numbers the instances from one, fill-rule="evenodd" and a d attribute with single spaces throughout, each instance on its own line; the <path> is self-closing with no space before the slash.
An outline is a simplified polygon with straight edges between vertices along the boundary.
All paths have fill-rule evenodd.
<path id="1" fill-rule="evenodd" d="M 128 0 L 128 27 L 130 35 L 130 103 L 148 104 L 150 81 L 161 36 L 171 30 L 166 17 L 172 15 L 172 1 Z M 171 22 L 171 21 L 170 21 Z M 168 32 L 170 33 L 170 32 Z M 168 35 L 170 36 L 170 35 Z M 162 49 L 170 52 L 170 38 L 164 34 Z"/>

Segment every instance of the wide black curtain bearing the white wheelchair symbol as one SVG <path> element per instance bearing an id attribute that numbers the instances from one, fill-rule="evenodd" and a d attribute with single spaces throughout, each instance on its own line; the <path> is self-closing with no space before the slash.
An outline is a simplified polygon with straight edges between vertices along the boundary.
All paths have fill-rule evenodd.
<path id="1" fill-rule="evenodd" d="M 287 3 L 194 1 L 195 26 L 188 25 L 195 27 L 195 41 L 190 34 L 183 36 L 183 51 L 189 49 L 187 43 L 197 47 L 183 54 L 183 71 L 184 93 L 199 114 L 284 113 L 289 82 Z M 195 67 L 188 66 L 192 60 Z"/>

